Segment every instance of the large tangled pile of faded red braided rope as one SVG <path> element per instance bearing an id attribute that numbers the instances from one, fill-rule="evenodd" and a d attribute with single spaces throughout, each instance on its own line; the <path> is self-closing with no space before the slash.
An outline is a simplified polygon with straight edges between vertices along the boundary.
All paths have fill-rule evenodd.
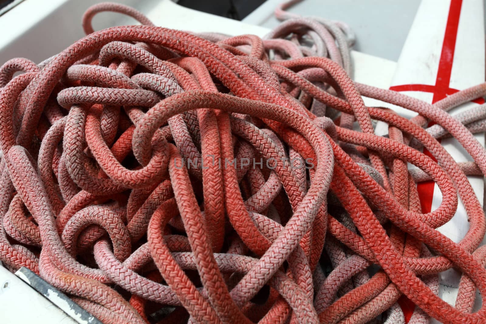
<path id="1" fill-rule="evenodd" d="M 472 134 L 486 106 L 447 111 L 486 84 L 432 105 L 353 83 L 352 33 L 288 5 L 262 40 L 154 27 L 103 3 L 65 51 L 5 63 L 4 265 L 104 323 L 404 323 L 401 295 L 417 306 L 409 323 L 485 323 L 485 306 L 471 313 L 476 290 L 486 296 L 485 214 L 466 175 L 486 174 Z M 94 32 L 106 10 L 144 25 Z M 457 163 L 445 136 L 473 162 Z M 443 200 L 422 213 L 416 186 L 430 179 Z M 469 231 L 456 244 L 435 228 L 458 197 Z M 455 307 L 437 296 L 452 267 Z"/>

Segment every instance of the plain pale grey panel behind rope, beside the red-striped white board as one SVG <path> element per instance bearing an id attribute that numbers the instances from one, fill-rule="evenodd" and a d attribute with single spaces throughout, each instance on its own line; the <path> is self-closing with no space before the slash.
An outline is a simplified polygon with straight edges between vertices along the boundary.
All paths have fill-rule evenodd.
<path id="1" fill-rule="evenodd" d="M 243 22 L 274 28 L 275 7 L 283 0 L 267 0 Z M 288 11 L 347 23 L 356 34 L 354 49 L 396 62 L 420 0 L 303 0 Z"/>

